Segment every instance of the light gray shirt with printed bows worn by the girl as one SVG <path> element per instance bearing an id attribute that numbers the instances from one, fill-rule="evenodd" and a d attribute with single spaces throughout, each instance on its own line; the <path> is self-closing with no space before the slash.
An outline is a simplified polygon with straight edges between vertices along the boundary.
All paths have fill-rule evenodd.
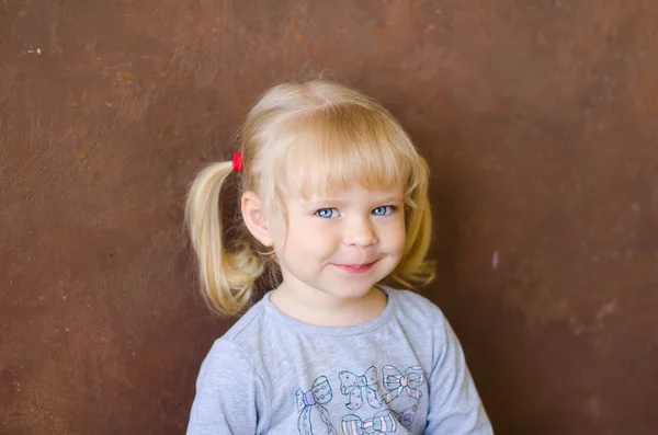
<path id="1" fill-rule="evenodd" d="M 384 312 L 348 328 L 298 322 L 266 294 L 203 362 L 188 435 L 492 434 L 441 310 L 382 288 Z"/>

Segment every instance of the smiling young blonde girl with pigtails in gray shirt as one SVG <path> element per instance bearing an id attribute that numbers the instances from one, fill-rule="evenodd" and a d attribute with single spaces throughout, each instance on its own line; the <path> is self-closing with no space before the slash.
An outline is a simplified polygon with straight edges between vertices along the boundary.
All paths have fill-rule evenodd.
<path id="1" fill-rule="evenodd" d="M 382 284 L 427 284 L 433 268 L 428 168 L 379 104 L 326 81 L 274 87 L 232 161 L 197 175 L 186 220 L 217 313 L 242 312 L 269 268 L 279 277 L 212 346 L 188 434 L 492 433 L 440 309 Z"/>

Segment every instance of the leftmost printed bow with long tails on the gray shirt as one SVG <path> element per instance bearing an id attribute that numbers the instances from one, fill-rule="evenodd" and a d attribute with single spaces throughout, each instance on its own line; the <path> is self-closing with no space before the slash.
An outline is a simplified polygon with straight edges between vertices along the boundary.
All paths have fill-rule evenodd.
<path id="1" fill-rule="evenodd" d="M 310 390 L 306 392 L 299 388 L 295 396 L 297 411 L 299 411 L 297 428 L 300 435 L 337 435 L 331 425 L 329 411 L 325 408 L 333 398 L 326 376 L 317 378 Z"/>

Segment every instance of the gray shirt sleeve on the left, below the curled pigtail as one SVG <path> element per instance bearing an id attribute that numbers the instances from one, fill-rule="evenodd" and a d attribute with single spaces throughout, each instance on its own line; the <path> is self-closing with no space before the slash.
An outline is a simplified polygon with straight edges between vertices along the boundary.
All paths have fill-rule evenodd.
<path id="1" fill-rule="evenodd" d="M 215 342 L 196 380 L 188 435 L 258 434 L 266 425 L 266 394 L 261 376 L 232 342 Z"/>

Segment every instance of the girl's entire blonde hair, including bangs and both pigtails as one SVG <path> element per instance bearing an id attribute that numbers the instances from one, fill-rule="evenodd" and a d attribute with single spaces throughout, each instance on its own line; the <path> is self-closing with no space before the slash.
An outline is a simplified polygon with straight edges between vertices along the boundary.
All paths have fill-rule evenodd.
<path id="1" fill-rule="evenodd" d="M 249 112 L 240 151 L 241 192 L 258 193 L 284 214 L 288 194 L 322 195 L 354 183 L 402 188 L 406 245 L 389 277 L 407 287 L 434 277 L 433 262 L 426 259 L 432 220 L 427 162 L 395 117 L 371 98 L 322 80 L 276 85 Z M 204 298 L 223 316 L 246 308 L 269 259 L 246 230 L 230 247 L 225 243 L 223 186 L 231 172 L 230 161 L 203 169 L 185 205 Z"/>

